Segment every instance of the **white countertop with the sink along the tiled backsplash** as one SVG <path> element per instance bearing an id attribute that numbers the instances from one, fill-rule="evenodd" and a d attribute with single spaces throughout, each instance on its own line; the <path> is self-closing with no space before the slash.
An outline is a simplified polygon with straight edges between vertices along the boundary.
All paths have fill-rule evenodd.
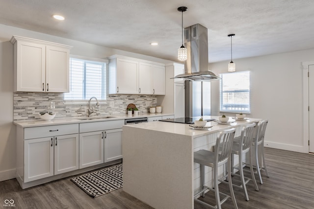
<path id="1" fill-rule="evenodd" d="M 124 120 L 130 118 L 141 118 L 141 117 L 157 117 L 157 116 L 171 116 L 174 114 L 164 114 L 164 113 L 140 113 L 138 116 L 129 117 L 128 114 L 120 115 L 108 115 L 109 118 L 102 118 L 105 116 L 92 116 L 93 119 L 84 120 L 87 117 L 64 117 L 64 118 L 53 118 L 52 120 L 15 120 L 13 123 L 15 125 L 21 126 L 22 128 L 37 127 L 37 126 L 48 126 L 48 125 L 63 125 L 71 123 L 88 123 L 88 122 L 98 122 L 98 121 L 109 121 L 109 120 Z M 143 124 L 143 123 L 142 123 Z"/>

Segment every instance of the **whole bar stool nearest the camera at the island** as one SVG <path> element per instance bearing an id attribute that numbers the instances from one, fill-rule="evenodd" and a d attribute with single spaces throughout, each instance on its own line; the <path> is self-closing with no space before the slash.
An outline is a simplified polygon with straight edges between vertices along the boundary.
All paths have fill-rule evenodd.
<path id="1" fill-rule="evenodd" d="M 194 194 L 194 200 L 198 203 L 201 203 L 207 207 L 214 209 L 221 209 L 221 204 L 227 201 L 230 197 L 229 195 L 219 192 L 218 182 L 229 184 L 229 189 L 231 193 L 231 199 L 234 203 L 234 208 L 237 209 L 235 202 L 235 194 L 232 187 L 231 181 L 231 149 L 233 145 L 233 140 L 235 137 L 235 129 L 229 129 L 221 131 L 216 140 L 215 151 L 211 152 L 209 150 L 199 150 L 194 152 L 194 163 L 199 163 L 201 168 L 201 191 L 197 194 Z M 228 164 L 227 174 L 218 179 L 218 167 Z M 214 188 L 209 188 L 205 186 L 205 165 L 213 168 L 213 183 Z M 229 182 L 225 182 L 224 179 L 228 177 Z M 202 197 L 205 197 L 205 191 L 211 190 L 215 192 L 216 206 L 209 205 L 208 203 L 197 199 L 196 197 L 201 194 Z M 224 195 L 225 198 L 220 201 L 220 194 Z"/>

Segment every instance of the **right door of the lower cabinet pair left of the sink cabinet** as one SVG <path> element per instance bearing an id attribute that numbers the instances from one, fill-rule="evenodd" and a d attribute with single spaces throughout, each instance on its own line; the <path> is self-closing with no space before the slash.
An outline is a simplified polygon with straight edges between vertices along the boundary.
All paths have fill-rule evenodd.
<path id="1" fill-rule="evenodd" d="M 54 175 L 78 169 L 78 134 L 54 137 Z"/>

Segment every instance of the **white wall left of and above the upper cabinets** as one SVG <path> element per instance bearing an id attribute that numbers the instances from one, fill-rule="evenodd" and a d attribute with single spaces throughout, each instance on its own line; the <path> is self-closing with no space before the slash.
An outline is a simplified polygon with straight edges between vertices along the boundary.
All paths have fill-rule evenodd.
<path id="1" fill-rule="evenodd" d="M 73 46 L 71 54 L 106 58 L 119 54 L 153 62 L 169 63 L 169 60 L 158 59 L 142 54 L 135 54 L 104 46 L 87 44 L 48 34 L 37 33 L 17 27 L 0 24 L 0 181 L 15 178 L 16 136 L 13 125 L 13 35 Z"/>

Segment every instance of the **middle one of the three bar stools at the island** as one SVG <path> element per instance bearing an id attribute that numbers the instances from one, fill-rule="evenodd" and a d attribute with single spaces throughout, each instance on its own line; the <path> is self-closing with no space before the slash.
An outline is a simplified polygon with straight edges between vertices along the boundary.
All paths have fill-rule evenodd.
<path id="1" fill-rule="evenodd" d="M 242 188 L 244 191 L 244 196 L 245 196 L 245 200 L 249 201 L 249 195 L 247 193 L 247 189 L 246 189 L 246 184 L 250 181 L 253 180 L 254 182 L 254 186 L 255 186 L 255 190 L 258 191 L 259 187 L 257 186 L 255 177 L 254 177 L 254 171 L 253 171 L 253 166 L 252 166 L 252 142 L 253 142 L 253 135 L 254 135 L 254 129 L 255 129 L 256 124 L 255 123 L 251 123 L 248 124 L 246 126 L 244 126 L 241 130 L 241 135 L 240 137 L 237 137 L 237 140 L 239 140 L 239 143 L 233 143 L 232 145 L 232 151 L 231 151 L 231 159 L 232 162 L 234 162 L 234 156 L 238 155 L 238 166 L 233 166 L 232 165 L 232 175 L 236 175 L 239 176 L 241 179 L 241 185 L 235 185 L 233 184 L 233 186 Z M 249 160 L 250 160 L 250 171 L 251 171 L 251 178 L 247 178 L 244 176 L 243 173 L 243 166 L 246 165 L 246 163 L 243 163 L 243 156 L 249 153 Z M 233 163 L 232 163 L 233 164 Z M 238 169 L 240 174 L 236 174 L 234 173 L 234 169 Z"/>

